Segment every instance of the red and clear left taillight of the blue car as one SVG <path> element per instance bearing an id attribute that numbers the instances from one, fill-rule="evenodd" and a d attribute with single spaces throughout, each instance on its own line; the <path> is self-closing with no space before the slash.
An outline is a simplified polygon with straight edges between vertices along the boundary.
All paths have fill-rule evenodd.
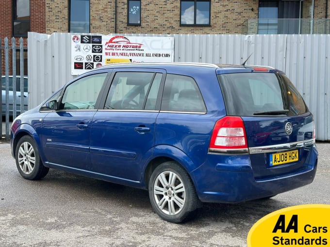
<path id="1" fill-rule="evenodd" d="M 210 151 L 247 149 L 247 134 L 242 118 L 226 116 L 218 120 L 213 129 Z"/>

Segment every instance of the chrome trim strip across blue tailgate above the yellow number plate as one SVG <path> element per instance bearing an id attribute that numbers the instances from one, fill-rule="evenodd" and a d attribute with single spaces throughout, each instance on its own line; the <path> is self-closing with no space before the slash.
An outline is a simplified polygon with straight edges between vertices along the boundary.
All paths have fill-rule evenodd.
<path id="1" fill-rule="evenodd" d="M 285 144 L 277 144 L 277 145 L 270 145 L 270 146 L 263 146 L 263 147 L 253 147 L 253 148 L 249 148 L 248 152 L 250 154 L 275 153 L 275 152 L 281 152 L 281 151 L 288 151 L 290 149 L 295 149 L 295 148 L 302 148 L 302 147 L 310 146 L 313 144 L 315 144 L 315 139 L 309 139 L 309 140 L 302 140 L 302 141 L 296 141 L 296 142 L 285 143 Z"/>

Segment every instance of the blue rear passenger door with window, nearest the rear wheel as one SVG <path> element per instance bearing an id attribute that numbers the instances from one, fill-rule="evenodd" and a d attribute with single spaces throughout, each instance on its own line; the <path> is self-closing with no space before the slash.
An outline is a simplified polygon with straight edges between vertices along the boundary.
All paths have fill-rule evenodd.
<path id="1" fill-rule="evenodd" d="M 156 105 L 164 70 L 114 70 L 110 90 L 91 127 L 91 159 L 98 173 L 133 181 L 152 154 Z"/>

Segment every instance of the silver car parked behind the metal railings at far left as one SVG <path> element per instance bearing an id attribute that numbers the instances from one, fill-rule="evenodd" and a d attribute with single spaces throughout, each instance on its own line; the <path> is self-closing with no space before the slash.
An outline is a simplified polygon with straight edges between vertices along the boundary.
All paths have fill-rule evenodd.
<path id="1" fill-rule="evenodd" d="M 13 105 L 14 105 L 14 98 L 13 98 L 13 76 L 9 76 L 9 101 L 6 102 L 6 77 L 1 77 L 1 92 L 2 92 L 2 116 L 6 115 L 6 110 L 9 109 L 9 116 L 13 116 Z M 28 77 L 24 77 L 24 111 L 28 110 Z M 20 108 L 21 103 L 21 91 L 20 91 L 20 76 L 16 76 L 16 115 L 19 115 L 21 113 Z"/>

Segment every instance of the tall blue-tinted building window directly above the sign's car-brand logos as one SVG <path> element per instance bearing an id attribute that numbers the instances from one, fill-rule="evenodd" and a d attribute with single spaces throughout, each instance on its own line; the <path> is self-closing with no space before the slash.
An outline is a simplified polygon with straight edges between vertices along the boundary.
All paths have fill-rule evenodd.
<path id="1" fill-rule="evenodd" d="M 90 32 L 89 0 L 70 0 L 69 32 Z"/>

